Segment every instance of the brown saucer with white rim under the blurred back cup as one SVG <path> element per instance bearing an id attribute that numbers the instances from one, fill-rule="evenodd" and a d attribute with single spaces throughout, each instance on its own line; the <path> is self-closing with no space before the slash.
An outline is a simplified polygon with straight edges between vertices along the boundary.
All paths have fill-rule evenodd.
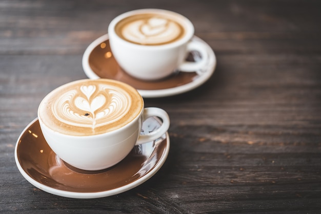
<path id="1" fill-rule="evenodd" d="M 199 71 L 176 72 L 167 78 L 155 81 L 136 79 L 119 67 L 110 50 L 108 34 L 97 38 L 88 46 L 83 56 L 83 69 L 91 79 L 108 78 L 128 83 L 137 89 L 143 97 L 164 97 L 184 93 L 207 81 L 216 67 L 216 58 L 211 47 L 196 36 L 193 39 L 203 42 L 207 46 L 207 63 Z M 197 61 L 199 57 L 198 52 L 192 52 L 187 60 Z"/>

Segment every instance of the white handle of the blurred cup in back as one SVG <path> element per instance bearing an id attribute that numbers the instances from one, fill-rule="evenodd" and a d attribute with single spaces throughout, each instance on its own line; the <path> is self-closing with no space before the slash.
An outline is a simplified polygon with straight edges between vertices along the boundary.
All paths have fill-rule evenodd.
<path id="1" fill-rule="evenodd" d="M 200 53 L 200 55 L 202 56 L 202 58 L 200 58 L 200 60 L 198 61 L 184 61 L 179 67 L 178 70 L 179 71 L 183 71 L 183 72 L 196 72 L 199 69 L 204 68 L 204 66 L 206 65 L 208 58 L 209 58 L 209 54 L 207 52 L 207 47 L 199 41 L 193 40 L 190 41 L 187 44 L 187 52 L 191 52 L 191 51 L 197 51 Z"/>

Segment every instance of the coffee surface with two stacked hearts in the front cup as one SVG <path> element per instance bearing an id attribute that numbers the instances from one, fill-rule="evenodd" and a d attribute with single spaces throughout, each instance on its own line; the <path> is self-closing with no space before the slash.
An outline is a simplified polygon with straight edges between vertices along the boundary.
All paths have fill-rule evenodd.
<path id="1" fill-rule="evenodd" d="M 49 93 L 39 105 L 38 115 L 53 131 L 89 136 L 125 126 L 143 108 L 143 98 L 130 85 L 108 79 L 84 79 Z"/>

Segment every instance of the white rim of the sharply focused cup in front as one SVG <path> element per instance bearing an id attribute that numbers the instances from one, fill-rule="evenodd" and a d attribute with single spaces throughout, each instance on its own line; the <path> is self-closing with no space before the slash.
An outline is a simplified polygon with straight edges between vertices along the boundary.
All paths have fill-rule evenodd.
<path id="1" fill-rule="evenodd" d="M 75 81 L 71 81 L 71 82 L 67 82 L 66 84 L 71 84 L 71 83 L 74 83 L 74 82 L 79 82 L 79 81 L 83 81 L 83 80 L 93 80 L 93 79 L 79 79 L 79 80 L 75 80 Z M 99 80 L 102 80 L 102 79 L 99 79 Z M 112 81 L 112 82 L 120 82 L 122 84 L 126 84 L 126 85 L 129 85 L 127 83 L 124 83 L 124 82 L 121 82 L 121 81 L 117 81 L 117 80 L 113 80 L 113 79 L 107 79 L 108 81 Z M 54 133 L 55 135 L 60 135 L 60 136 L 64 136 L 64 137 L 69 137 L 69 138 L 76 138 L 76 139 L 83 139 L 83 138 L 97 138 L 97 137 L 101 137 L 101 136 L 104 136 L 104 135 L 113 135 L 113 134 L 116 134 L 118 132 L 122 132 L 124 131 L 125 129 L 127 129 L 128 126 L 132 125 L 133 123 L 135 123 L 137 120 L 139 120 L 139 118 L 142 117 L 142 114 L 144 112 L 144 109 L 145 109 L 145 106 L 144 106 L 144 99 L 142 97 L 142 95 L 140 95 L 138 93 L 138 91 L 136 89 L 134 89 L 133 87 L 131 87 L 131 85 L 129 85 L 129 87 L 133 88 L 135 90 L 135 92 L 141 96 L 141 99 L 142 99 L 142 109 L 141 109 L 141 112 L 139 112 L 137 114 L 136 117 L 134 117 L 130 122 L 128 122 L 127 124 L 119 127 L 118 129 L 116 130 L 112 130 L 112 131 L 109 131 L 109 132 L 105 132 L 105 133 L 101 133 L 101 134 L 96 134 L 96 135 L 83 135 L 83 136 L 80 136 L 80 135 L 69 135 L 69 134 L 64 134 L 64 133 L 61 133 L 59 131 L 55 131 L 53 129 L 51 129 L 44 121 L 43 119 L 41 118 L 40 114 L 39 114 L 39 109 L 40 109 L 40 106 L 42 104 L 42 102 L 44 101 L 44 99 L 49 96 L 49 94 L 53 93 L 54 91 L 58 90 L 59 88 L 63 87 L 64 85 L 66 84 L 63 84 L 63 85 L 60 85 L 59 87 L 55 88 L 54 90 L 52 90 L 51 92 L 49 92 L 43 99 L 42 101 L 40 102 L 39 106 L 38 106 L 38 110 L 37 110 L 37 117 L 38 117 L 38 121 L 41 125 L 44 125 L 46 128 L 47 128 L 47 131 L 50 131 L 51 133 Z M 42 129 L 42 128 L 41 128 Z"/>

